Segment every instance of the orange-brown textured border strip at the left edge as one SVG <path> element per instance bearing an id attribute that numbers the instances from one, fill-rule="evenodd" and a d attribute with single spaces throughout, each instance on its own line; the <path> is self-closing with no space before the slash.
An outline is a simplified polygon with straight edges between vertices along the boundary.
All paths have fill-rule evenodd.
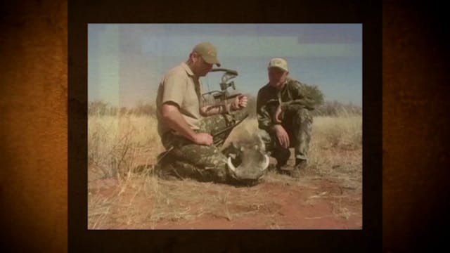
<path id="1" fill-rule="evenodd" d="M 67 250 L 67 1 L 0 4 L 0 250 Z"/>

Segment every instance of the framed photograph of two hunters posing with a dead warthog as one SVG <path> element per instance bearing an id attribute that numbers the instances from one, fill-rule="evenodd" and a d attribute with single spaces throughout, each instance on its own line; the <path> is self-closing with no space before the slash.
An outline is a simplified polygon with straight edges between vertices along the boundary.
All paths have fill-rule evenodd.
<path id="1" fill-rule="evenodd" d="M 87 32 L 87 229 L 363 229 L 361 23 Z"/>

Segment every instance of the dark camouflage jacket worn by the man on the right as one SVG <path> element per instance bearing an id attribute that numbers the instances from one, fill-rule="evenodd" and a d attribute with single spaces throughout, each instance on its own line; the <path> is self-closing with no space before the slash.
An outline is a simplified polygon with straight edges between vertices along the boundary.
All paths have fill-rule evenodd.
<path id="1" fill-rule="evenodd" d="M 314 110 L 314 100 L 307 95 L 306 88 L 301 82 L 288 78 L 281 91 L 266 84 L 259 89 L 257 96 L 259 129 L 270 131 L 271 126 L 274 126 L 272 115 L 278 105 L 281 105 L 282 111 L 299 107 Z"/>

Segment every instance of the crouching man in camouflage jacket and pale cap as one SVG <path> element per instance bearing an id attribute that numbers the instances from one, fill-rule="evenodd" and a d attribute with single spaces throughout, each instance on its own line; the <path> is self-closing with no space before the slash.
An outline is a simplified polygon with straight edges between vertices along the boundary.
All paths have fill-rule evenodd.
<path id="1" fill-rule="evenodd" d="M 288 63 L 283 58 L 269 62 L 269 83 L 259 89 L 257 119 L 259 136 L 266 144 L 266 151 L 277 160 L 276 168 L 298 177 L 300 169 L 307 166 L 311 141 L 314 100 L 307 95 L 304 84 L 288 77 Z M 295 149 L 295 167 L 287 166 L 289 148 Z"/>

